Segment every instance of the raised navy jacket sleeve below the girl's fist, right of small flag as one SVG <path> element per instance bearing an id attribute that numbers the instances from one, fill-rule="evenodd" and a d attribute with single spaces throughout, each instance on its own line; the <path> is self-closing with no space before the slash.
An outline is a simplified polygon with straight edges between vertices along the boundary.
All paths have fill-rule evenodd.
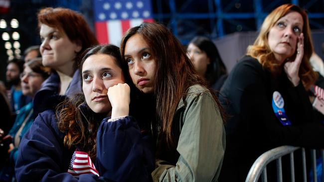
<path id="1" fill-rule="evenodd" d="M 154 154 L 151 139 L 131 116 L 102 121 L 97 133 L 100 175 L 117 182 L 152 181 Z"/>

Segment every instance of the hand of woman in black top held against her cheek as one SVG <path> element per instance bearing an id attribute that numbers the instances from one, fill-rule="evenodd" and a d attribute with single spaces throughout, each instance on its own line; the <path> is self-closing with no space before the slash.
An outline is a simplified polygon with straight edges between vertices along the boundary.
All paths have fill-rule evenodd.
<path id="1" fill-rule="evenodd" d="M 301 80 L 299 78 L 298 73 L 299 73 L 299 68 L 301 66 L 302 59 L 304 56 L 304 34 L 303 33 L 301 33 L 301 35 L 298 37 L 297 41 L 298 41 L 297 49 L 296 49 L 297 54 L 296 54 L 295 60 L 288 61 L 284 65 L 284 69 L 288 76 L 288 79 L 295 87 L 298 86 L 298 84 Z"/>

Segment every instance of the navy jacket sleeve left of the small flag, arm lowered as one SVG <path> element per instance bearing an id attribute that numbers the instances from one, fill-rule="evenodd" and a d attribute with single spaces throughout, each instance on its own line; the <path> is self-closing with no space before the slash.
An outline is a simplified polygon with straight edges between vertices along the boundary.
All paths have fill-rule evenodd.
<path id="1" fill-rule="evenodd" d="M 74 151 L 63 145 L 53 111 L 38 115 L 21 140 L 15 166 L 18 182 L 106 182 L 104 177 L 84 174 L 78 178 L 67 173 Z"/>

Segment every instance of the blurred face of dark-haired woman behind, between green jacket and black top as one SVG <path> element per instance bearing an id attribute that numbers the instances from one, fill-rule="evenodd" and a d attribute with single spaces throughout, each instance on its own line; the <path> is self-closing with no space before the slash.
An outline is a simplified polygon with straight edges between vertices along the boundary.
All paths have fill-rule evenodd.
<path id="1" fill-rule="evenodd" d="M 205 77 L 207 67 L 210 64 L 210 59 L 207 54 L 194 44 L 190 43 L 187 48 L 187 55 L 198 74 Z"/>

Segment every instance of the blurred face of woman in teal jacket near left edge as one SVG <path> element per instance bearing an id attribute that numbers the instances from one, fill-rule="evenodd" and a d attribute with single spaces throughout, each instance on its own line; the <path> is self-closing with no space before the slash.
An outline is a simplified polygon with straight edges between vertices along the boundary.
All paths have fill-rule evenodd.
<path id="1" fill-rule="evenodd" d="M 25 66 L 20 80 L 22 94 L 33 98 L 45 79 L 39 73 L 33 72 L 29 66 Z"/>

